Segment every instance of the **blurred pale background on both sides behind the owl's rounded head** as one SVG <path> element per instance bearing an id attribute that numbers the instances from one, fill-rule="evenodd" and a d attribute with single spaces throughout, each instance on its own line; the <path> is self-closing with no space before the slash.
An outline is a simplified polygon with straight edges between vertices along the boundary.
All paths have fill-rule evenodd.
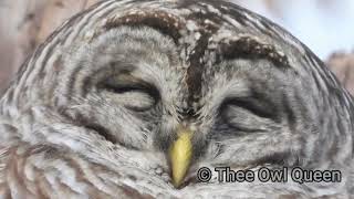
<path id="1" fill-rule="evenodd" d="M 0 0 L 0 94 L 64 20 L 100 0 Z M 282 25 L 354 94 L 354 0 L 230 0 Z"/>

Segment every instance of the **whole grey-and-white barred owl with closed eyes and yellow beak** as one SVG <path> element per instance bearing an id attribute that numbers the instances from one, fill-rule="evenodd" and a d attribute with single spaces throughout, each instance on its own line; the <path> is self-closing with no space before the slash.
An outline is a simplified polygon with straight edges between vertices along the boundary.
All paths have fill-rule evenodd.
<path id="1" fill-rule="evenodd" d="M 216 0 L 107 0 L 38 48 L 0 102 L 0 195 L 353 195 L 353 102 L 300 41 Z M 209 182 L 228 166 L 341 182 Z"/>

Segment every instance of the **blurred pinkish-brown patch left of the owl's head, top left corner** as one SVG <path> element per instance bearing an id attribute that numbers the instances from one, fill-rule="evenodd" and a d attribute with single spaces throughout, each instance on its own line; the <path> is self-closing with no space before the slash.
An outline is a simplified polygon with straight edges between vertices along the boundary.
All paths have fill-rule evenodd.
<path id="1" fill-rule="evenodd" d="M 100 0 L 2 0 L 0 91 L 27 56 L 66 19 Z"/>

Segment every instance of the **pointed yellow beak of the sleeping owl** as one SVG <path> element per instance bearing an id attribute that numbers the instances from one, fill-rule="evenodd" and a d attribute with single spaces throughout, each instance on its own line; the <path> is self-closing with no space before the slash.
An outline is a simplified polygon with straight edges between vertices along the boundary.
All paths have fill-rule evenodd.
<path id="1" fill-rule="evenodd" d="M 192 146 L 192 132 L 189 128 L 180 128 L 178 130 L 178 139 L 173 143 L 169 150 L 169 159 L 173 171 L 173 184 L 178 188 L 190 166 Z"/>

